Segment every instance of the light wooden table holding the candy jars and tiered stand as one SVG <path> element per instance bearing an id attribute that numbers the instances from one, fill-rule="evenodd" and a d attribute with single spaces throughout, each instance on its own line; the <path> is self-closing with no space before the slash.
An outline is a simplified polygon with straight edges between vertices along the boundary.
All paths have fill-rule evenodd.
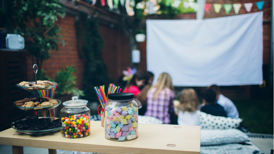
<path id="1" fill-rule="evenodd" d="M 200 126 L 139 124 L 139 137 L 131 141 L 110 141 L 104 136 L 101 121 L 91 121 L 91 134 L 82 138 L 65 138 L 60 131 L 42 136 L 21 134 L 13 128 L 0 132 L 0 144 L 12 145 L 13 154 L 23 153 L 23 147 L 93 153 L 169 154 L 200 153 Z"/>

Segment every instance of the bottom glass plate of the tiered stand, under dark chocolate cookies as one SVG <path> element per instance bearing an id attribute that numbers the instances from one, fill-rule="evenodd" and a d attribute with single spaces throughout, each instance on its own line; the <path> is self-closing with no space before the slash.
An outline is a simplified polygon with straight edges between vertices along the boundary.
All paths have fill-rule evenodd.
<path id="1" fill-rule="evenodd" d="M 56 117 L 39 117 L 39 118 L 51 118 L 51 121 L 58 119 Z M 14 128 L 14 122 L 11 124 L 11 128 L 15 129 L 17 132 L 20 132 L 22 134 L 27 134 L 27 135 L 44 135 L 44 134 L 50 134 L 53 132 L 56 132 L 57 130 L 61 130 L 61 127 L 50 129 L 50 130 L 20 130 L 17 128 Z"/>

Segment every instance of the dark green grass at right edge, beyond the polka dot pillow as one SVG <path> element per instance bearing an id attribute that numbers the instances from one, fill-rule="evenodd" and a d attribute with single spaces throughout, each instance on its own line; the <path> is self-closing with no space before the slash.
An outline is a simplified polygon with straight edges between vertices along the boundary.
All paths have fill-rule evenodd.
<path id="1" fill-rule="evenodd" d="M 235 100 L 241 123 L 250 132 L 273 134 L 274 107 L 273 100 Z"/>

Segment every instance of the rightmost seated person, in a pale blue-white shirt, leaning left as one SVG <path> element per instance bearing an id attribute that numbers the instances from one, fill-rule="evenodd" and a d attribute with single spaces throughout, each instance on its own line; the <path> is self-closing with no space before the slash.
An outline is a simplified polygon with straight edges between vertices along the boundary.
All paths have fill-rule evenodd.
<path id="1" fill-rule="evenodd" d="M 220 104 L 222 107 L 224 107 L 224 111 L 227 113 L 228 117 L 239 118 L 239 113 L 236 106 L 230 99 L 228 99 L 227 97 L 221 94 L 219 86 L 213 84 L 209 86 L 208 88 L 216 92 L 217 103 Z"/>

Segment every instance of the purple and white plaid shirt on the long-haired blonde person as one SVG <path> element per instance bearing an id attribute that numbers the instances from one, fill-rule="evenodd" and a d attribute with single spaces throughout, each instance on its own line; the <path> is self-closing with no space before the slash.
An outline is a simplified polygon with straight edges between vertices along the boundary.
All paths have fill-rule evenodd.
<path id="1" fill-rule="evenodd" d="M 147 94 L 147 109 L 145 116 L 153 116 L 162 120 L 164 124 L 170 124 L 170 113 L 174 112 L 174 92 L 164 88 L 156 101 L 153 101 L 153 94 L 156 88 L 152 88 Z"/>

